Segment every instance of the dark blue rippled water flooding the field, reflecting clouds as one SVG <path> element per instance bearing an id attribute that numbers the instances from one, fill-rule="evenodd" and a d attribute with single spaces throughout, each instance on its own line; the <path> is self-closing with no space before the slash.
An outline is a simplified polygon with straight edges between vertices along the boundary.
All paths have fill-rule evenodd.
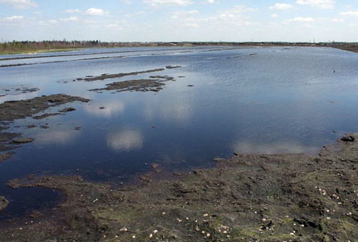
<path id="1" fill-rule="evenodd" d="M 3 89 L 21 85 L 40 89 L 28 94 L 12 90 L 0 97 L 0 103 L 56 93 L 92 100 L 57 107 L 77 109 L 65 116 L 13 124 L 48 123 L 50 128 L 11 129 L 35 141 L 16 149 L 12 159 L 0 164 L 0 195 L 14 204 L 6 216 L 26 210 L 26 205 L 17 205 L 23 192 L 7 188 L 6 182 L 31 172 L 80 174 L 89 180 L 121 183 L 149 170 L 151 163 L 186 170 L 211 166 L 212 158 L 230 157 L 234 151 L 315 153 L 341 134 L 358 131 L 357 54 L 331 48 L 222 49 L 96 49 L 57 53 L 85 54 L 79 56 L 0 57 L 0 65 L 38 63 L 0 68 L 0 95 Z M 120 51 L 127 52 L 113 53 Z M 37 56 L 46 55 L 54 54 Z M 115 58 L 88 59 L 97 57 Z M 87 60 L 79 60 L 83 58 Z M 64 62 L 44 63 L 54 61 Z M 105 81 L 72 81 L 175 64 L 183 67 Z M 88 91 L 150 75 L 185 77 L 166 82 L 158 94 Z M 75 130 L 77 126 L 81 130 Z M 31 209 L 52 205 L 58 198 L 46 189 L 32 191 L 23 199 Z"/>

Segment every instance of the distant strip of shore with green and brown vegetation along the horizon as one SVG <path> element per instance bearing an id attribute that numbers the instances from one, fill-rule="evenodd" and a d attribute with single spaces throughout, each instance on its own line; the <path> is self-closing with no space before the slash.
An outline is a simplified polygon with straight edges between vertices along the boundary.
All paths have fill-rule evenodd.
<path id="1" fill-rule="evenodd" d="M 0 43 L 0 55 L 72 51 L 83 48 L 159 47 L 159 46 L 323 46 L 358 52 L 358 43 L 347 42 L 101 42 L 88 41 L 11 41 Z"/>

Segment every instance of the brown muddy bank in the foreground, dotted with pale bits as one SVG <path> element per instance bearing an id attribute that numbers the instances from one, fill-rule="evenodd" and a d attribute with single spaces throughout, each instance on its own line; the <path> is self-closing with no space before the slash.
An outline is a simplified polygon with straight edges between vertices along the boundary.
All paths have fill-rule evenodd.
<path id="1" fill-rule="evenodd" d="M 67 200 L 34 223 L 0 226 L 2 241 L 358 241 L 358 134 L 317 156 L 237 155 L 142 182 L 29 177 L 12 188 L 62 191 Z M 165 180 L 156 177 L 167 177 Z M 20 219 L 21 220 L 21 219 Z"/>

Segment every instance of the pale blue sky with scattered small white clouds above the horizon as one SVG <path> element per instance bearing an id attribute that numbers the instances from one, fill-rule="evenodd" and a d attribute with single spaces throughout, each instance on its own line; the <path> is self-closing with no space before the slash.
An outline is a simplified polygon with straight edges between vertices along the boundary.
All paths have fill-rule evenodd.
<path id="1" fill-rule="evenodd" d="M 0 41 L 358 42 L 358 0 L 0 0 Z"/>

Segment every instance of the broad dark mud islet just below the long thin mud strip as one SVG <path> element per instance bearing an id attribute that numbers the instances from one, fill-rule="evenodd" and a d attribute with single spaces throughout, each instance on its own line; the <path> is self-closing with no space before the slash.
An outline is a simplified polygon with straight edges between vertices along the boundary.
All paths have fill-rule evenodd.
<path id="1" fill-rule="evenodd" d="M 117 81 L 113 83 L 106 84 L 106 87 L 102 89 L 92 89 L 89 91 L 103 91 L 103 90 L 116 90 L 116 92 L 125 92 L 125 91 L 137 91 L 137 92 L 159 92 L 164 86 L 163 83 L 165 80 L 159 79 L 137 79 L 137 80 L 127 80 L 127 81 Z"/>

